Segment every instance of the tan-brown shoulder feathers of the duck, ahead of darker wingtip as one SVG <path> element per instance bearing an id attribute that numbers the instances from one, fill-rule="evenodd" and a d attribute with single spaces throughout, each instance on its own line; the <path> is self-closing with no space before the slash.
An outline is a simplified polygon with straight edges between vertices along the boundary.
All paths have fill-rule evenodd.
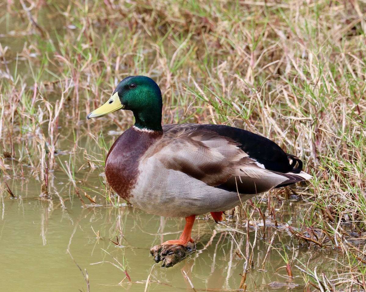
<path id="1" fill-rule="evenodd" d="M 165 168 L 184 172 L 209 186 L 227 181 L 235 166 L 247 157 L 229 138 L 198 130 L 195 125 L 163 127 L 163 131 L 147 155 L 155 156 Z"/>

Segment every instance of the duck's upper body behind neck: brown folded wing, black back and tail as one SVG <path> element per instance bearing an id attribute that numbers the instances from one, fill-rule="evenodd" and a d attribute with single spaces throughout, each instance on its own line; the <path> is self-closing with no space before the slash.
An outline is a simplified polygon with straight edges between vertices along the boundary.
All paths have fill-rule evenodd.
<path id="1" fill-rule="evenodd" d="M 165 125 L 163 131 L 163 137 L 147 156 L 154 156 L 165 168 L 186 173 L 209 186 L 257 194 L 310 178 L 303 172 L 291 172 L 287 154 L 278 145 L 248 131 L 199 124 Z M 289 171 L 266 168 L 276 161 L 282 164 L 277 169 Z"/>

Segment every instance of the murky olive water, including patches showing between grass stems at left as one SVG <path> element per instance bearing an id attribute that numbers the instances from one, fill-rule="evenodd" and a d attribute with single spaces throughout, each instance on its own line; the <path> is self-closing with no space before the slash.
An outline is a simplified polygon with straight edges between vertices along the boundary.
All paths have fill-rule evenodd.
<path id="1" fill-rule="evenodd" d="M 42 10 L 45 21 L 41 24 L 58 23 L 50 20 L 48 12 L 46 8 Z M 54 14 L 55 10 L 51 12 Z M 11 72 L 22 70 L 28 76 L 25 81 L 33 86 L 28 61 L 16 60 L 16 54 L 26 43 L 21 31 L 27 23 L 14 14 L 1 16 L 1 44 L 3 48 L 8 46 L 10 52 L 6 55 L 11 61 L 8 68 Z M 41 18 L 39 15 L 38 19 Z M 62 27 L 55 29 L 62 30 Z M 108 206 L 100 195 L 97 195 L 97 203 L 101 206 L 82 207 L 60 165 L 72 158 L 72 165 L 75 171 L 78 170 L 75 175 L 78 187 L 90 196 L 96 195 L 90 191 L 96 188 L 103 193 L 99 189 L 103 180 L 102 168 L 97 167 L 94 171 L 83 168 L 87 158 L 83 156 L 83 149 L 74 147 L 73 137 L 76 136 L 76 143 L 86 152 L 98 152 L 96 142 L 88 136 L 85 113 L 83 115 L 81 126 L 76 129 L 72 129 L 72 121 L 60 117 L 61 136 L 56 149 L 58 166 L 49 173 L 50 199 L 39 196 L 39 173 L 24 164 L 23 179 L 19 162 L 5 160 L 9 169 L 16 170 L 16 175 L 4 178 L 15 198 L 10 198 L 1 182 L 0 291 L 87 291 L 86 273 L 90 291 L 144 291 L 145 288 L 146 291 L 192 291 L 192 286 L 196 291 L 237 291 L 245 265 L 242 254 L 245 254 L 247 235 L 244 234 L 245 226 L 231 226 L 229 216 L 228 226 L 217 225 L 200 216 L 193 228 L 197 249 L 176 266 L 165 269 L 154 263 L 149 250 L 155 244 L 179 237 L 184 225 L 182 219 L 153 216 L 133 206 Z M 131 124 L 131 116 L 127 115 L 127 118 L 126 125 Z M 95 124 L 101 127 L 103 121 Z M 95 129 L 93 124 L 91 127 Z M 108 130 L 119 129 L 115 126 L 102 128 L 106 144 L 110 146 L 117 135 L 108 135 Z M 99 129 L 94 134 L 98 135 L 98 132 Z M 15 149 L 16 153 L 18 149 Z M 102 154 L 98 157 L 102 158 Z M 290 214 L 295 213 L 294 207 L 288 209 Z M 99 231 L 101 238 L 97 238 L 93 230 Z M 311 262 L 313 267 L 321 265 L 322 270 L 335 268 L 339 260 L 335 252 L 299 247 L 298 241 L 284 232 L 279 233 L 273 244 L 278 250 L 270 251 L 264 270 L 260 271 L 274 231 L 267 228 L 265 236 L 258 233 L 253 267 L 247 274 L 247 291 L 303 291 L 305 282 L 294 266 L 295 277 L 287 277 L 281 257 L 284 251 L 296 259 L 297 265 Z M 254 242 L 254 233 L 251 228 L 250 244 Z M 110 241 L 116 241 L 116 237 L 121 244 L 119 247 Z M 124 270 L 132 282 L 128 281 Z"/>

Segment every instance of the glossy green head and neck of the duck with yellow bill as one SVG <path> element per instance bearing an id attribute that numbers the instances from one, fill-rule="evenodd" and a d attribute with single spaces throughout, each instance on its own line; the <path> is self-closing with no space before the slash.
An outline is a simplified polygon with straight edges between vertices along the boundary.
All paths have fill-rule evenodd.
<path id="1" fill-rule="evenodd" d="M 161 131 L 161 110 L 163 101 L 159 86 L 146 76 L 124 78 L 113 91 L 108 101 L 87 115 L 101 117 L 119 109 L 134 113 L 135 126 L 141 129 Z"/>

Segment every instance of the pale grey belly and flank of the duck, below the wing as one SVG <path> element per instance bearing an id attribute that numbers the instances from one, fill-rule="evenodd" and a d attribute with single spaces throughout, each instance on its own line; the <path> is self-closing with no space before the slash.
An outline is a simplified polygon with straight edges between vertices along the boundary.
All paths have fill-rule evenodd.
<path id="1" fill-rule="evenodd" d="M 159 216 L 187 217 L 213 211 L 225 211 L 250 199 L 253 195 L 230 192 L 208 186 L 183 172 L 156 164 L 144 168 L 128 201 L 135 207 Z"/>

